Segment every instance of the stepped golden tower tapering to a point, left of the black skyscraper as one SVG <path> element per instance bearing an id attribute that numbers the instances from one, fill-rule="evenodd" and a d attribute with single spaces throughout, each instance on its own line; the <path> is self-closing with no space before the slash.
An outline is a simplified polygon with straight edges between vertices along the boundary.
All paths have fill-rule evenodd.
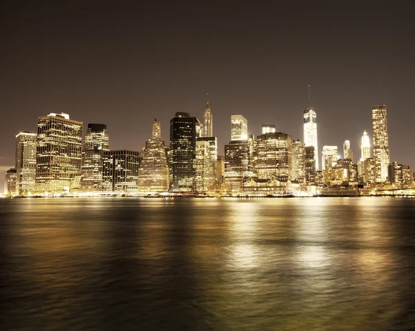
<path id="1" fill-rule="evenodd" d="M 165 142 L 161 139 L 160 122 L 154 118 L 151 138 L 141 152 L 142 159 L 138 170 L 138 190 L 165 192 L 169 189 L 169 165 Z"/>

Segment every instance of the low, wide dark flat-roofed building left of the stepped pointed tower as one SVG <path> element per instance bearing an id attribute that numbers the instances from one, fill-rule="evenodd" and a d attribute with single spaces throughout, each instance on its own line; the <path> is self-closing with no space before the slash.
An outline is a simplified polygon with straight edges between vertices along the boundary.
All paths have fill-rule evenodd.
<path id="1" fill-rule="evenodd" d="M 110 150 L 104 152 L 102 190 L 111 192 L 138 192 L 140 152 Z"/>

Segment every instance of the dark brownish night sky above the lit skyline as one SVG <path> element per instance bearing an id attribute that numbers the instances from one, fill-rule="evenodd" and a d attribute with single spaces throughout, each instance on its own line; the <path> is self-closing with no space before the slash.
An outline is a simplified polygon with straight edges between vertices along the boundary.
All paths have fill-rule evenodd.
<path id="1" fill-rule="evenodd" d="M 166 141 L 176 111 L 201 120 L 207 92 L 220 154 L 232 114 L 302 140 L 308 84 L 320 149 L 349 139 L 357 161 L 386 104 L 391 161 L 415 166 L 414 7 L 277 2 L 2 1 L 1 172 L 37 116 L 105 123 L 111 149 L 140 150 L 155 117 Z"/>

